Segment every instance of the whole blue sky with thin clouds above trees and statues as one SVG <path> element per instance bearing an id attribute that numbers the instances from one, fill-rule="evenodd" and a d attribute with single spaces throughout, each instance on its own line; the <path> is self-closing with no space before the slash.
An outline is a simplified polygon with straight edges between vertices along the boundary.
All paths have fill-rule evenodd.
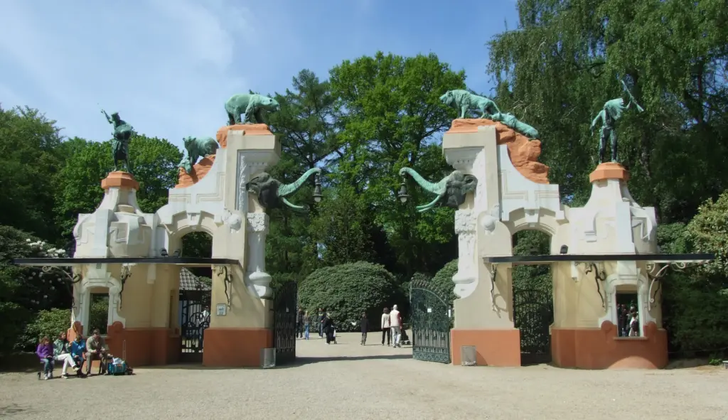
<path id="1" fill-rule="evenodd" d="M 285 92 L 309 68 L 435 52 L 488 92 L 486 41 L 515 28 L 515 0 L 0 0 L 0 103 L 63 135 L 107 140 L 100 114 L 181 146 L 214 136 L 234 93 Z"/>

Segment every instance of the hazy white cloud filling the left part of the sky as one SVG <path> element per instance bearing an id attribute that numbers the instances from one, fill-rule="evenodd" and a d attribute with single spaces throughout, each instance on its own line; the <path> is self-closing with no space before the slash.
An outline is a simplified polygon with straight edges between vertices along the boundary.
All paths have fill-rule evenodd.
<path id="1" fill-rule="evenodd" d="M 255 19 L 235 0 L 0 0 L 0 9 L 0 102 L 39 108 L 69 136 L 106 140 L 101 106 L 179 145 L 214 135 L 225 100 L 249 88 L 234 64 L 254 55 Z"/>

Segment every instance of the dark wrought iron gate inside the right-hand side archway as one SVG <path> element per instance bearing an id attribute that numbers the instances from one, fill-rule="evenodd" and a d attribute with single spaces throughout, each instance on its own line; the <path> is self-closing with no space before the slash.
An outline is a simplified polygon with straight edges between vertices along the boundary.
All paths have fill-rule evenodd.
<path id="1" fill-rule="evenodd" d="M 513 323 L 521 331 L 521 365 L 550 362 L 552 293 L 544 290 L 513 290 Z"/>

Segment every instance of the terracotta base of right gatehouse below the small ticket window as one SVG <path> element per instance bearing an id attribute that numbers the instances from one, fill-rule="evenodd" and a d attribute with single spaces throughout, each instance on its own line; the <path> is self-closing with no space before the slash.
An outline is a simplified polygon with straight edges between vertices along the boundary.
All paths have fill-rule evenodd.
<path id="1" fill-rule="evenodd" d="M 668 364 L 668 333 L 654 322 L 644 326 L 644 337 L 617 337 L 617 327 L 551 329 L 551 355 L 561 368 L 659 369 Z"/>

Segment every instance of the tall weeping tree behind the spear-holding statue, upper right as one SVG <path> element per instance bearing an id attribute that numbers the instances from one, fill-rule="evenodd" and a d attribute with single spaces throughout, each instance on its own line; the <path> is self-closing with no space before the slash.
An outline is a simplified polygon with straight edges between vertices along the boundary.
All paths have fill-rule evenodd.
<path id="1" fill-rule="evenodd" d="M 727 188 L 724 1 L 520 0 L 518 12 L 518 31 L 489 42 L 488 73 L 501 109 L 538 128 L 542 162 L 567 201 L 590 194 L 598 142 L 589 124 L 621 94 L 617 77 L 647 110 L 617 127 L 637 201 L 662 223 L 687 222 Z"/>

